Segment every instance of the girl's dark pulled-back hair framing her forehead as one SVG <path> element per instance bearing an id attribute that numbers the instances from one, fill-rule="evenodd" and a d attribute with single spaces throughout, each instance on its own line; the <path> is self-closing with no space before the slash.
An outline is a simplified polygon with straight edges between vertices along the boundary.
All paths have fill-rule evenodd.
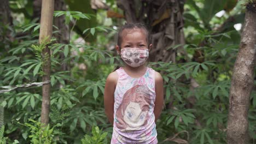
<path id="1" fill-rule="evenodd" d="M 133 28 L 143 29 L 143 31 L 146 34 L 147 43 L 149 45 L 149 31 L 143 23 L 125 23 L 125 25 L 123 27 L 121 27 L 118 32 L 118 43 L 117 44 L 119 47 L 121 47 L 122 33 L 123 33 L 124 29 L 133 29 Z"/>

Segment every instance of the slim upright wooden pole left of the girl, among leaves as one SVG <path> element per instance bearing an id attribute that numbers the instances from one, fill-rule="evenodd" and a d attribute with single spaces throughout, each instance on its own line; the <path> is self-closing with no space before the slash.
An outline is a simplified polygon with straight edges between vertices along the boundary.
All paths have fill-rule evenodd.
<path id="1" fill-rule="evenodd" d="M 53 34 L 53 12 L 54 12 L 54 0 L 43 0 L 41 19 L 40 19 L 40 35 L 39 43 L 45 43 L 51 39 Z M 42 51 L 43 58 L 43 81 L 50 81 L 51 72 L 51 56 L 50 49 L 46 46 Z M 42 87 L 42 111 L 41 111 L 41 123 L 49 123 L 50 112 L 50 83 L 44 84 Z"/>

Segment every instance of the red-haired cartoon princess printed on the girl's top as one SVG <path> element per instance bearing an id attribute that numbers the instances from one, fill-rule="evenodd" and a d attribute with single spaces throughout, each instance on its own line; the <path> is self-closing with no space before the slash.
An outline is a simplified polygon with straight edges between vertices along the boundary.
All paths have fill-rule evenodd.
<path id="1" fill-rule="evenodd" d="M 150 94 L 146 85 L 136 85 L 124 94 L 116 118 L 120 142 L 143 142 L 147 139 L 146 125 L 149 119 Z"/>

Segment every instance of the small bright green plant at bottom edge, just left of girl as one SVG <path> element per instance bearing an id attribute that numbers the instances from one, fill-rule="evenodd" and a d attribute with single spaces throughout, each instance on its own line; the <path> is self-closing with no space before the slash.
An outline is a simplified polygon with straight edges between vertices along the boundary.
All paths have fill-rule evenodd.
<path id="1" fill-rule="evenodd" d="M 84 139 L 82 139 L 82 144 L 103 144 L 106 143 L 104 139 L 106 139 L 107 132 L 102 133 L 102 130 L 100 130 L 98 127 L 92 127 L 92 136 L 85 135 Z"/>

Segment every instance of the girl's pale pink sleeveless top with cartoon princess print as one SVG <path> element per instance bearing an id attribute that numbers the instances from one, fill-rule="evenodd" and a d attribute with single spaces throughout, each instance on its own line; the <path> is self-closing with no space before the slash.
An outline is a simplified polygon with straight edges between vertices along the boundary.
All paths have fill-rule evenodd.
<path id="1" fill-rule="evenodd" d="M 114 92 L 114 127 L 111 143 L 158 143 L 154 115 L 155 71 L 133 78 L 121 67 Z"/>

